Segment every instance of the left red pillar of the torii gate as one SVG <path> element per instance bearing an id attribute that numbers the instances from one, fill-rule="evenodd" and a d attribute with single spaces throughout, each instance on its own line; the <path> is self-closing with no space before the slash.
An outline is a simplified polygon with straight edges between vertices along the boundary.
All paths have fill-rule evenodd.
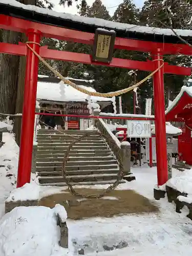
<path id="1" fill-rule="evenodd" d="M 31 48 L 39 54 L 41 36 L 40 32 L 35 31 L 34 29 L 30 29 L 28 30 L 27 35 Z M 29 48 L 27 48 L 27 63 L 25 75 L 22 131 L 18 161 L 17 187 L 22 187 L 26 183 L 30 183 L 31 178 L 38 63 L 38 58 Z"/>

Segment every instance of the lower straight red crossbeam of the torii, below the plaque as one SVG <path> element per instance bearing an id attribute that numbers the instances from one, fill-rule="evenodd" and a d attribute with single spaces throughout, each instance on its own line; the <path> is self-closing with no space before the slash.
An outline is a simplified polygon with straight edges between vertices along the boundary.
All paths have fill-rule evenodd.
<path id="1" fill-rule="evenodd" d="M 0 53 L 8 53 L 13 55 L 27 55 L 27 49 L 24 44 L 14 45 L 0 42 Z M 115 68 L 124 68 L 124 69 L 136 69 L 143 70 L 148 72 L 153 72 L 155 70 L 155 63 L 153 61 L 138 61 L 138 60 L 129 60 L 121 58 L 113 58 L 111 63 L 103 62 L 93 62 L 92 56 L 84 53 L 75 53 L 67 51 L 58 51 L 50 50 L 47 47 L 40 48 L 40 56 L 45 59 L 54 59 L 62 61 L 72 61 L 72 62 L 81 62 L 88 65 L 101 65 Z M 173 65 L 168 65 L 167 62 L 164 63 L 164 73 L 175 74 L 175 75 L 185 75 L 188 76 L 191 74 L 190 68 L 178 67 Z"/>

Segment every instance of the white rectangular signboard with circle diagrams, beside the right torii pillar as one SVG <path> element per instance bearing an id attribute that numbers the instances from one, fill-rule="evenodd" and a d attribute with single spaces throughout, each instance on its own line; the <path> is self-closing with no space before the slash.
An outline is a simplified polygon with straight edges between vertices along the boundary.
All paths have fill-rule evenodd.
<path id="1" fill-rule="evenodd" d="M 150 138 L 151 133 L 151 121 L 127 121 L 127 136 L 130 138 Z"/>

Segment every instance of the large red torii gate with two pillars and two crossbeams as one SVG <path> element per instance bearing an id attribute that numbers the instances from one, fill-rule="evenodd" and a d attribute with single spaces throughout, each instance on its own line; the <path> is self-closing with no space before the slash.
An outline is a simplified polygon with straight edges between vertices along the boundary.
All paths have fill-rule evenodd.
<path id="1" fill-rule="evenodd" d="M 47 15 L 45 12 L 47 12 Z M 169 36 L 167 37 L 169 42 L 164 42 L 166 36 L 163 34 L 161 35 L 163 40 L 159 39 L 160 36 L 157 36 L 156 38 L 153 34 L 150 34 L 150 36 L 148 36 L 149 38 L 147 38 L 147 34 L 142 32 L 135 32 L 135 34 L 132 32 L 127 34 L 123 31 L 121 33 L 121 30 L 116 29 L 115 26 L 114 30 L 118 32 L 114 46 L 116 49 L 150 52 L 153 56 L 153 61 L 145 62 L 113 58 L 111 63 L 94 62 L 92 61 L 92 56 L 88 54 L 50 50 L 47 47 L 40 47 L 41 37 L 50 37 L 93 45 L 95 35 L 93 31 L 95 31 L 96 28 L 101 27 L 95 25 L 92 26 L 93 28 L 91 30 L 91 25 L 89 23 L 84 24 L 83 22 L 79 26 L 78 22 L 75 23 L 73 20 L 67 18 L 59 18 L 54 14 L 55 12 L 45 9 L 42 13 L 40 8 L 35 8 L 33 10 L 31 6 L 18 4 L 18 2 L 14 3 L 14 5 L 7 5 L 4 0 L 0 0 L 0 28 L 25 33 L 32 49 L 45 59 L 73 61 L 90 65 L 104 65 L 108 67 L 120 67 L 153 72 L 161 67 L 164 54 L 191 55 L 192 53 L 192 48 L 185 44 L 181 44 L 181 41 L 180 44 L 177 44 L 179 39 L 176 36 Z M 63 26 L 60 24 L 63 24 Z M 176 44 L 173 44 L 172 40 L 176 42 Z M 30 182 L 39 60 L 33 52 L 22 43 L 15 45 L 1 42 L 0 53 L 27 56 L 22 136 L 20 141 L 17 175 L 17 187 L 20 187 L 25 183 Z M 159 69 L 153 76 L 158 185 L 163 185 L 168 178 L 163 83 L 164 73 L 190 75 L 191 70 L 190 68 L 171 66 L 168 65 L 168 63 L 164 63 L 164 67 Z"/>

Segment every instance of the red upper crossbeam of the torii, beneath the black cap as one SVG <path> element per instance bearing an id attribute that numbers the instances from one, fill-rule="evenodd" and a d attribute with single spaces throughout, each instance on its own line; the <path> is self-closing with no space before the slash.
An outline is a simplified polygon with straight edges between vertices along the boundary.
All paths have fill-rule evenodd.
<path id="1" fill-rule="evenodd" d="M 16 32 L 26 33 L 28 29 L 39 30 L 44 37 L 55 38 L 93 45 L 94 34 L 88 32 L 66 29 L 52 25 L 46 25 L 30 20 L 15 18 L 0 14 L 0 28 Z M 133 50 L 140 52 L 156 52 L 161 49 L 162 54 L 185 54 L 192 55 L 192 48 L 185 44 L 163 44 L 162 42 L 143 41 L 117 37 L 115 40 L 116 49 Z"/>

